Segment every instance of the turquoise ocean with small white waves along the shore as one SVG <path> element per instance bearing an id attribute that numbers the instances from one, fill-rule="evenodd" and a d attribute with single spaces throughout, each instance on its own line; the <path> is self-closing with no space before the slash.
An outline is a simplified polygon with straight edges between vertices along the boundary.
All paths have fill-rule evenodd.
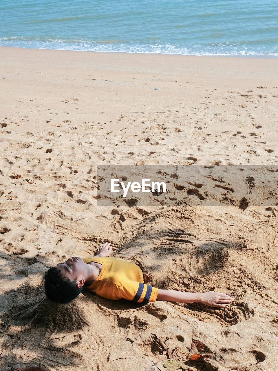
<path id="1" fill-rule="evenodd" d="M 0 46 L 278 56 L 278 1 L 1 0 Z"/>

